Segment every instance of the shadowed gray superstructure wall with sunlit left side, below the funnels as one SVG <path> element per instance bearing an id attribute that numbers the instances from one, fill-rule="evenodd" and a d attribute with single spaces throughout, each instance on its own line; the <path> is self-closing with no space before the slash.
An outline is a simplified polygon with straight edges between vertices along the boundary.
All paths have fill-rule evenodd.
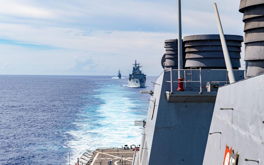
<path id="1" fill-rule="evenodd" d="M 209 125 L 216 92 L 206 92 L 206 81 L 223 81 L 226 71 L 203 70 L 203 93 L 199 94 L 198 83 L 186 84 L 184 92 L 173 92 L 170 83 L 170 71 L 164 71 L 157 79 L 154 94 L 151 96 L 148 117 L 138 164 L 202 164 L 205 153 Z M 235 72 L 237 79 L 243 79 L 243 71 Z M 189 75 L 190 76 L 190 75 Z M 178 72 L 173 71 L 174 80 Z M 199 77 L 199 69 L 192 71 L 193 80 Z M 222 83 L 223 85 L 224 83 Z M 178 83 L 173 83 L 173 89 Z M 168 102 L 169 99 L 169 102 Z"/>

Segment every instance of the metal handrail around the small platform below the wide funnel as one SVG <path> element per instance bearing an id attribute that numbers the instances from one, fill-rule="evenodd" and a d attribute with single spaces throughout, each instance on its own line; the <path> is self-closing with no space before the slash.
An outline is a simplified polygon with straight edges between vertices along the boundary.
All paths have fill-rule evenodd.
<path id="1" fill-rule="evenodd" d="M 210 70 L 210 71 L 227 71 L 227 69 L 204 69 L 204 70 Z M 173 82 L 177 82 L 177 83 L 185 83 L 185 87 L 186 87 L 186 82 L 187 83 L 200 83 L 200 94 L 202 93 L 202 82 L 208 82 L 208 81 L 202 81 L 202 68 L 200 67 L 199 69 L 172 69 L 170 68 L 170 70 L 166 70 L 165 72 L 170 71 L 170 77 L 171 77 L 171 81 L 166 81 L 167 83 L 171 83 L 171 93 L 173 93 L 173 88 L 172 88 L 172 83 Z M 187 81 L 185 79 L 185 81 L 173 81 L 172 80 L 172 71 L 199 71 L 200 72 L 200 80 L 199 81 Z M 239 70 L 239 69 L 233 69 L 233 71 L 247 71 L 247 70 Z M 228 71 L 227 71 L 228 74 Z M 219 83 L 228 83 L 229 81 L 214 81 L 214 82 L 219 82 Z"/>

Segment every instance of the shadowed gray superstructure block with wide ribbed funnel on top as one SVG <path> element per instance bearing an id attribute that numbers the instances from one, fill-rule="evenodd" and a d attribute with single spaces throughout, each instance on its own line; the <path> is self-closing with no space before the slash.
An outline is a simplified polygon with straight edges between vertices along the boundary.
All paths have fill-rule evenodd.
<path id="1" fill-rule="evenodd" d="M 238 69 L 243 37 L 225 37 L 232 67 Z M 137 164 L 203 162 L 218 87 L 226 84 L 227 70 L 219 35 L 192 35 L 183 41 L 186 69 L 180 71 L 184 91 L 178 88 L 178 69 L 167 67 L 178 60 L 170 54 L 150 98 Z M 171 63 L 177 67 L 177 62 Z M 244 78 L 243 70 L 234 71 L 237 80 Z"/>

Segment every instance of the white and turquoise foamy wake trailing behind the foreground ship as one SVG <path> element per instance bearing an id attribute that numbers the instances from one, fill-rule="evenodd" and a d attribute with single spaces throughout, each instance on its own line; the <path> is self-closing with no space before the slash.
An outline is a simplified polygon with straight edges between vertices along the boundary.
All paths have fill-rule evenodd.
<path id="1" fill-rule="evenodd" d="M 83 115 L 82 120 L 75 121 L 79 130 L 68 132 L 73 136 L 67 142 L 67 147 L 71 148 L 71 162 L 76 162 L 86 149 L 140 144 L 142 132 L 139 126 L 134 126 L 134 121 L 146 119 L 142 109 L 147 107 L 136 98 L 126 97 L 131 92 L 122 91 L 122 87 L 111 85 L 95 92 L 99 94 L 94 97 L 102 99 L 104 104 L 94 111 L 87 108 L 86 112 L 78 114 Z M 86 116 L 94 116 L 94 120 Z"/>

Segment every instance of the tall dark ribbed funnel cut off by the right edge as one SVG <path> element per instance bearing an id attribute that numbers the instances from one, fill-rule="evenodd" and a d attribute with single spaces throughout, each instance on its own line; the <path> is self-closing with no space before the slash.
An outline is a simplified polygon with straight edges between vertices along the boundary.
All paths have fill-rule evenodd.
<path id="1" fill-rule="evenodd" d="M 248 61 L 247 77 L 264 73 L 264 1 L 241 0 L 239 11 L 244 13 L 245 61 Z"/>

